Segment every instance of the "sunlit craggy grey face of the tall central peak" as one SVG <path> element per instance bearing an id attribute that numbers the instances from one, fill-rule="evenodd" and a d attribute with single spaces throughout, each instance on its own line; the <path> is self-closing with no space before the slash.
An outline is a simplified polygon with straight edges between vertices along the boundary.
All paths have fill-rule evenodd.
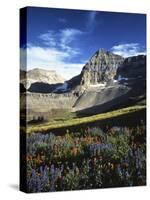
<path id="1" fill-rule="evenodd" d="M 108 82 L 114 78 L 123 61 L 123 57 L 99 49 L 83 67 L 80 84 L 88 86 Z"/>

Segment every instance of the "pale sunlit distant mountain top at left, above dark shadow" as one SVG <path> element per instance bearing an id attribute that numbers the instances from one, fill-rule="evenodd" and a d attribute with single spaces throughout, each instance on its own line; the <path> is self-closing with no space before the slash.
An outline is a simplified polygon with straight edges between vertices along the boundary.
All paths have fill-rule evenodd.
<path id="1" fill-rule="evenodd" d="M 26 78 L 21 79 L 21 83 L 26 89 L 29 89 L 33 83 L 46 83 L 46 84 L 57 84 L 64 83 L 65 79 L 57 74 L 54 70 L 44 70 L 35 68 L 26 73 Z"/>

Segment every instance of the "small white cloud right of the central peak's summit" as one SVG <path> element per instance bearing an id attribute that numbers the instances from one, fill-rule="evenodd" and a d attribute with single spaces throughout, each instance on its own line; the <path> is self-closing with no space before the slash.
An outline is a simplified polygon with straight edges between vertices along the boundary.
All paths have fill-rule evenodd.
<path id="1" fill-rule="evenodd" d="M 136 56 L 146 54 L 145 50 L 140 47 L 139 43 L 127 43 L 113 46 L 111 51 L 123 57 Z"/>

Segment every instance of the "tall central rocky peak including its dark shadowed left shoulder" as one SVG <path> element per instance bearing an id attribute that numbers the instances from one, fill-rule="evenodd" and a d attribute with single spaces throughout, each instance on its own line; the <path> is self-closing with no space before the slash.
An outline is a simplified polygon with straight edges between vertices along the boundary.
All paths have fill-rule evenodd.
<path id="1" fill-rule="evenodd" d="M 80 95 L 92 85 L 106 85 L 114 79 L 123 62 L 123 57 L 99 49 L 85 64 L 81 73 L 68 81 L 68 87 Z"/>

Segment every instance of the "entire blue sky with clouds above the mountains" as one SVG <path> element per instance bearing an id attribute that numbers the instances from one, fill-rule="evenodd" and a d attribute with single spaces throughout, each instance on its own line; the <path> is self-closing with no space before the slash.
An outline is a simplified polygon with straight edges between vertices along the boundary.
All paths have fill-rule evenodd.
<path id="1" fill-rule="evenodd" d="M 104 48 L 124 57 L 145 54 L 144 14 L 33 8 L 27 10 L 27 70 L 56 70 L 66 79 Z"/>

